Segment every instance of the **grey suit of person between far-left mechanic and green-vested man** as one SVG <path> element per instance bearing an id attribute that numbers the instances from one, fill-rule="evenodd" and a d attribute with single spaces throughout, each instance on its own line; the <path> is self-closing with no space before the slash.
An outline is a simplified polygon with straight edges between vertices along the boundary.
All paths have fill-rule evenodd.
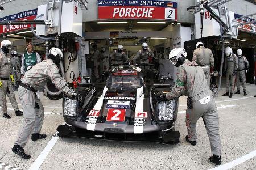
<path id="1" fill-rule="evenodd" d="M 14 85 L 18 86 L 20 81 L 20 59 L 17 56 L 11 58 L 11 74 L 14 77 Z"/>

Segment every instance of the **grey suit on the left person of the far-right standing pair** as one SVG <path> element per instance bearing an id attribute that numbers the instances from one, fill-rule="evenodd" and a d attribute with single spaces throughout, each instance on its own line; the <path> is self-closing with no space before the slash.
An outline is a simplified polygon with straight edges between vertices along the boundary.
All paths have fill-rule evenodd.
<path id="1" fill-rule="evenodd" d="M 232 54 L 230 57 L 226 57 L 225 59 L 225 69 L 226 69 L 226 92 L 234 92 L 234 83 L 236 76 L 234 75 L 235 70 L 238 69 L 238 58 L 236 54 Z"/>

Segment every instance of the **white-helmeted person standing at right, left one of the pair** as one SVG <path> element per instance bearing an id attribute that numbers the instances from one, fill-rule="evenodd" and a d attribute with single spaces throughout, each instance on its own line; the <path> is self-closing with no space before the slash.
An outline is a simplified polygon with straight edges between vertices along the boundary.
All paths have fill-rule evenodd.
<path id="1" fill-rule="evenodd" d="M 234 91 L 234 83 L 238 68 L 238 58 L 236 54 L 233 53 L 232 48 L 230 46 L 225 49 L 226 60 L 225 60 L 225 69 L 224 73 L 226 73 L 226 93 L 222 96 L 229 96 L 232 98 Z M 231 86 L 231 87 L 230 87 Z M 230 87 L 230 92 L 229 92 Z"/>

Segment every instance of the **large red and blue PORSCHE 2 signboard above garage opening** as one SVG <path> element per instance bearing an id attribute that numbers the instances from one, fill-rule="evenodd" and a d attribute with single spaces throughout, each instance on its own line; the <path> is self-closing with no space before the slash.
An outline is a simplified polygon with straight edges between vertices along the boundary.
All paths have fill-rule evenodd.
<path id="1" fill-rule="evenodd" d="M 177 2 L 98 0 L 98 19 L 177 20 Z"/>

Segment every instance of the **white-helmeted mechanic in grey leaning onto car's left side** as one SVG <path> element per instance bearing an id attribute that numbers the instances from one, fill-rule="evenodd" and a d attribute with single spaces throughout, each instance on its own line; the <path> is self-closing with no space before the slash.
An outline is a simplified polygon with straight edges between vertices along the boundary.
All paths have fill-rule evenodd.
<path id="1" fill-rule="evenodd" d="M 43 88 L 48 82 L 48 79 L 51 79 L 59 90 L 63 91 L 69 97 L 79 100 L 80 95 L 76 94 L 74 90 L 68 86 L 68 83 L 59 73 L 57 65 L 61 62 L 62 57 L 63 53 L 60 49 L 51 48 L 49 50 L 49 59 L 33 66 L 24 75 L 22 82 L 20 82 L 18 95 L 24 110 L 24 122 L 20 127 L 17 141 L 15 141 L 12 150 L 15 154 L 18 154 L 24 159 L 31 157 L 27 155 L 23 149 L 31 132 L 32 141 L 46 137 L 45 134 L 40 134 L 44 119 L 44 107 L 36 96 L 36 91 Z"/>

